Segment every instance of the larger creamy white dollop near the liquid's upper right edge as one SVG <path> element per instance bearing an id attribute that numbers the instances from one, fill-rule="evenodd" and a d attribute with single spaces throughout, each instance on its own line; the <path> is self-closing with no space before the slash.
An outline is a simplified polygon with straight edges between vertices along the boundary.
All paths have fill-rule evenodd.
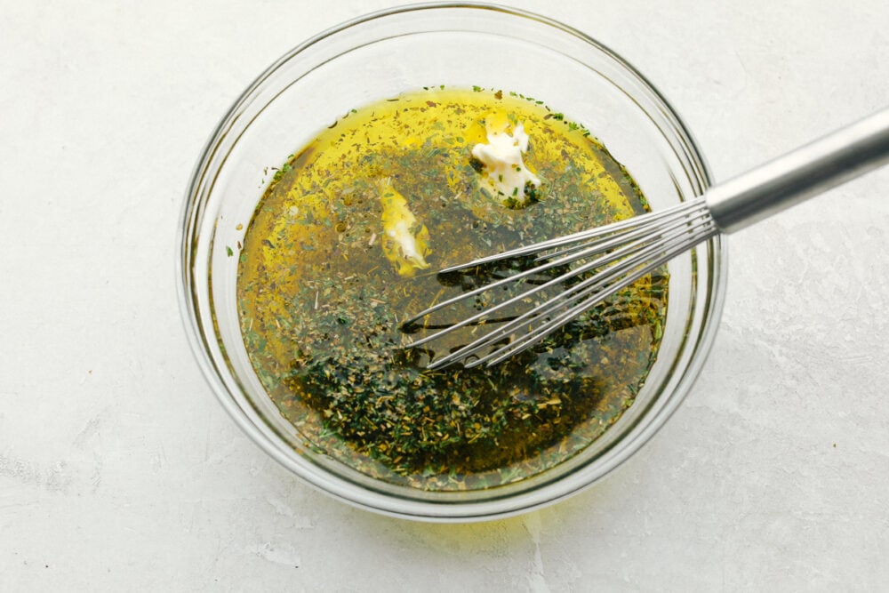
<path id="1" fill-rule="evenodd" d="M 493 196 L 509 207 L 524 207 L 528 197 L 525 185 L 540 187 L 541 180 L 531 172 L 522 159 L 528 150 L 528 134 L 525 126 L 516 124 L 509 133 L 509 119 L 502 114 L 485 118 L 485 131 L 488 143 L 477 144 L 472 148 L 484 169 L 484 183 L 492 190 Z"/>

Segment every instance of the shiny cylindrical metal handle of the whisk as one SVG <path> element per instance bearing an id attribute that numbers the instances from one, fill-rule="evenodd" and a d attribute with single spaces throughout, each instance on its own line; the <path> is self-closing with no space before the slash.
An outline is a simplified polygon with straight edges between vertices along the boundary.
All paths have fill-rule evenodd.
<path id="1" fill-rule="evenodd" d="M 710 188 L 704 198 L 724 233 L 768 218 L 889 163 L 889 108 Z"/>

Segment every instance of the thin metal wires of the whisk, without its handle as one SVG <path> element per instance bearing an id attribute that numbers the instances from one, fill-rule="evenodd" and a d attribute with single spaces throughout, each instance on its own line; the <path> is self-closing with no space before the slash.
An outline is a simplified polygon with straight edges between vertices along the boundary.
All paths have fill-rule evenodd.
<path id="1" fill-rule="evenodd" d="M 651 225 L 657 221 L 662 226 L 653 233 Z M 676 253 L 687 249 L 686 245 L 696 244 L 716 232 L 716 227 L 709 218 L 706 204 L 701 198 L 696 198 L 662 212 L 621 220 L 606 227 L 581 231 L 570 236 L 562 236 L 474 260 L 461 266 L 446 268 L 442 274 L 478 268 L 500 260 L 525 257 L 535 252 L 539 254 L 535 261 L 543 262 L 540 265 L 519 271 L 513 276 L 501 278 L 491 284 L 436 303 L 404 322 L 403 327 L 415 325 L 423 317 L 457 302 L 478 296 L 483 292 L 491 291 L 493 288 L 517 283 L 529 276 L 540 275 L 549 270 L 562 268 L 579 260 L 589 260 L 590 257 L 593 257 L 593 260 L 569 268 L 547 282 L 536 284 L 525 292 L 495 303 L 477 314 L 464 317 L 436 333 L 431 333 L 412 342 L 412 347 L 416 347 L 441 338 L 445 334 L 453 333 L 461 327 L 492 323 L 493 313 L 507 309 L 521 301 L 528 301 L 534 295 L 549 288 L 565 285 L 578 276 L 589 274 L 588 277 L 581 279 L 576 284 L 566 286 L 562 292 L 537 304 L 522 315 L 503 319 L 502 325 L 494 328 L 491 332 L 454 349 L 445 357 L 430 361 L 428 368 L 440 368 L 459 360 L 463 360 L 467 367 L 481 365 L 485 362 L 494 365 L 503 358 L 526 349 L 535 341 L 571 321 L 584 310 L 595 306 L 615 292 L 649 274 L 653 268 L 657 268 Z M 551 252 L 550 250 L 554 248 L 557 251 Z M 620 262 L 620 265 L 615 265 L 616 262 Z M 590 274 L 595 270 L 600 271 Z M 552 317 L 552 314 L 558 309 L 563 309 L 563 311 Z M 541 320 L 542 323 L 536 325 Z M 520 333 L 523 327 L 527 328 L 526 333 Z M 500 341 L 506 342 L 497 347 Z M 492 349 L 482 357 L 469 360 L 469 357 L 476 356 L 479 351 L 485 348 Z"/>

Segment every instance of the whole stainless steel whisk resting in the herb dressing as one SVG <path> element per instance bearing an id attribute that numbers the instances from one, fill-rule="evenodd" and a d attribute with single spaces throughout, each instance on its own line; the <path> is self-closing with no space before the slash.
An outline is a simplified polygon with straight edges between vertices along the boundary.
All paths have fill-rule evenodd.
<path id="1" fill-rule="evenodd" d="M 602 227 L 472 260 L 445 268 L 439 277 L 472 274 L 495 263 L 530 261 L 500 277 L 420 311 L 402 324 L 405 333 L 420 327 L 431 314 L 469 299 L 486 298 L 494 289 L 528 281 L 524 292 L 488 304 L 479 312 L 444 325 L 414 340 L 412 348 L 441 340 L 462 327 L 493 325 L 493 329 L 448 355 L 432 360 L 429 369 L 462 362 L 466 367 L 496 365 L 651 274 L 680 253 L 719 233 L 733 233 L 829 188 L 889 162 L 889 108 L 837 132 L 797 148 L 785 156 L 709 188 L 702 196 Z M 515 268 L 515 267 L 513 267 Z M 531 282 L 532 278 L 551 277 Z M 547 290 L 557 290 L 546 296 Z M 542 296 L 534 302 L 534 295 Z M 510 308 L 530 308 L 513 317 L 498 318 Z M 493 324 L 496 321 L 497 324 Z"/>

